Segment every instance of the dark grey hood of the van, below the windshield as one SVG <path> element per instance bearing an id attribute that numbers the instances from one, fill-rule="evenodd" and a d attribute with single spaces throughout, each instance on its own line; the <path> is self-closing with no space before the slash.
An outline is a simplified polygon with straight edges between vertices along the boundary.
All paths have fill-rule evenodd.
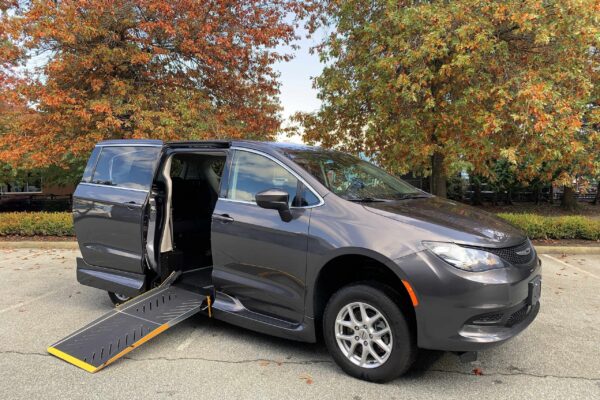
<path id="1" fill-rule="evenodd" d="M 421 228 L 431 238 L 462 244 L 510 247 L 526 236 L 498 217 L 474 207 L 431 196 L 389 202 L 374 202 L 365 208 L 375 214 Z"/>

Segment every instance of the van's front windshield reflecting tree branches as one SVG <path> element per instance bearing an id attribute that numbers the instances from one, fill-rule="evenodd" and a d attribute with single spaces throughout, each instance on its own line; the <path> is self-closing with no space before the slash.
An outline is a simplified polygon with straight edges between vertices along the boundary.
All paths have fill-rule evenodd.
<path id="1" fill-rule="evenodd" d="M 373 164 L 349 154 L 290 150 L 287 156 L 346 200 L 386 201 L 428 196 Z"/>

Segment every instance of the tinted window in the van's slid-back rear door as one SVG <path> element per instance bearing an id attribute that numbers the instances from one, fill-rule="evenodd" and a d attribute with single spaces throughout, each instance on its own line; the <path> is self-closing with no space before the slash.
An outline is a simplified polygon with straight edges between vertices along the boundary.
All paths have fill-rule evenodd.
<path id="1" fill-rule="evenodd" d="M 128 189 L 150 189 L 160 147 L 104 147 L 91 182 Z"/>

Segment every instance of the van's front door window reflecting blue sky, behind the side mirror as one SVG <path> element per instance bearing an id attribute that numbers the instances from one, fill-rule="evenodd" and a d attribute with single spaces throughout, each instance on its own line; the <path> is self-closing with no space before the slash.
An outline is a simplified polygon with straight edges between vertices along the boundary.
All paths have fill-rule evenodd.
<path id="1" fill-rule="evenodd" d="M 316 196 L 288 170 L 259 154 L 236 151 L 233 158 L 227 197 L 232 200 L 256 201 L 256 194 L 269 189 L 287 192 L 290 205 L 307 206 L 318 203 Z M 300 196 L 296 196 L 300 193 Z M 309 203 L 307 201 L 310 195 Z"/>

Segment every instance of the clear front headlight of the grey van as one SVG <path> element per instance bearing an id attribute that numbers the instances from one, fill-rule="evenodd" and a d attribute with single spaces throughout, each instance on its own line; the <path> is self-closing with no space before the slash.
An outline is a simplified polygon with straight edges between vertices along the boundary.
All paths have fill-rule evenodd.
<path id="1" fill-rule="evenodd" d="M 444 242 L 423 242 L 423 245 L 448 264 L 465 271 L 480 272 L 505 267 L 500 257 L 487 251 Z"/>

